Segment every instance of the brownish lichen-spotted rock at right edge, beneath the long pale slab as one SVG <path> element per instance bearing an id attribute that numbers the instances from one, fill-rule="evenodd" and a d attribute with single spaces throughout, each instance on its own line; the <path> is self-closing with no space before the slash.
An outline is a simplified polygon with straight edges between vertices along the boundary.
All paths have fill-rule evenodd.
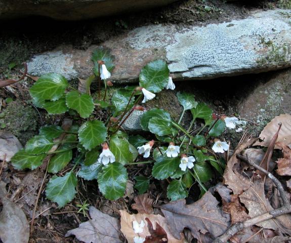
<path id="1" fill-rule="evenodd" d="M 241 117 L 263 127 L 280 114 L 291 114 L 291 69 L 259 77 L 259 85 L 238 104 Z"/>

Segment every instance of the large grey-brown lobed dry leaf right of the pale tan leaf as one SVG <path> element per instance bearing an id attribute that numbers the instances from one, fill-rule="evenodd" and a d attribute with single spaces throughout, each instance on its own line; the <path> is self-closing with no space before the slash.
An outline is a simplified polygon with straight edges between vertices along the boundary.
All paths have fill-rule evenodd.
<path id="1" fill-rule="evenodd" d="M 161 211 L 176 238 L 181 238 L 183 229 L 189 228 L 192 235 L 201 241 L 202 235 L 210 233 L 214 239 L 223 234 L 230 225 L 218 204 L 219 201 L 207 191 L 193 204 L 186 205 L 186 200 L 182 199 L 163 205 Z"/>

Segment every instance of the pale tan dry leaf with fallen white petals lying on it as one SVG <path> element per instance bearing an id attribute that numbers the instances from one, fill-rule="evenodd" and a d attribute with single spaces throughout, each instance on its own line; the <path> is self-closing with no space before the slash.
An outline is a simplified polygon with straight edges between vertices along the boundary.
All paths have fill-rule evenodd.
<path id="1" fill-rule="evenodd" d="M 181 239 L 176 239 L 170 232 L 167 221 L 161 215 L 154 214 L 129 214 L 126 211 L 120 210 L 121 216 L 121 232 L 126 236 L 128 243 L 134 243 L 134 237 L 142 237 L 147 238 L 147 236 L 151 236 L 149 231 L 148 222 L 146 219 L 149 219 L 152 223 L 153 230 L 156 230 L 157 224 L 164 230 L 167 234 L 169 243 L 182 243 L 184 241 L 183 237 Z M 135 233 L 133 229 L 133 221 L 137 221 L 139 224 L 143 221 L 144 227 L 141 233 Z"/>

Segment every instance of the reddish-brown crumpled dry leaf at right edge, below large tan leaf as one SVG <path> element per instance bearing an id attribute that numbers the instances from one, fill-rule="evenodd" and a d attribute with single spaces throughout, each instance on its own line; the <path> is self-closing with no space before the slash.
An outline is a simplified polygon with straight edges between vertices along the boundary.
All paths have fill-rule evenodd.
<path id="1" fill-rule="evenodd" d="M 277 143 L 277 146 L 282 150 L 284 157 L 277 160 L 276 172 L 280 176 L 291 176 L 291 149 L 284 143 Z"/>

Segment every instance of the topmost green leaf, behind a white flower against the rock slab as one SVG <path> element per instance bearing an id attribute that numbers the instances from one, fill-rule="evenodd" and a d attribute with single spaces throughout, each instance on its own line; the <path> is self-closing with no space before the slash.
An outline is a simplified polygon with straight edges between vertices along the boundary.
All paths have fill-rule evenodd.
<path id="1" fill-rule="evenodd" d="M 110 54 L 110 50 L 108 48 L 98 47 L 97 49 L 95 49 L 92 53 L 92 61 L 94 62 L 93 71 L 96 76 L 99 76 L 98 61 L 103 61 L 109 72 L 112 72 L 114 69 L 114 57 Z M 100 73 L 101 71 L 102 67 L 100 66 Z"/>

